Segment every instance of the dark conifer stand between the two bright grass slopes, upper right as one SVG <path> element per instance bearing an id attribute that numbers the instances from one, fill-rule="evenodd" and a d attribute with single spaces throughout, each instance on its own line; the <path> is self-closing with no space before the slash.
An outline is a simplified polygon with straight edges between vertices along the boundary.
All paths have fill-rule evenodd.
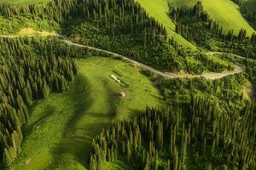
<path id="1" fill-rule="evenodd" d="M 204 48 L 223 50 L 253 57 L 256 54 L 256 34 L 247 36 L 247 31 L 242 29 L 236 35 L 233 30 L 224 31 L 217 21 L 212 20 L 203 11 L 201 2 L 193 8 L 173 8 L 171 12 L 176 21 L 176 32 L 191 42 Z M 203 36 L 202 36 L 203 35 Z"/>

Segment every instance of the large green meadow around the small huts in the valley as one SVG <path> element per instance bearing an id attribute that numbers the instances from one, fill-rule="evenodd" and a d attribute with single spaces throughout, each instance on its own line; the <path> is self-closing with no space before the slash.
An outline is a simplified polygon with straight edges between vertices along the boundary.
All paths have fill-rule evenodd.
<path id="1" fill-rule="evenodd" d="M 139 114 L 146 105 L 160 105 L 158 90 L 138 68 L 102 57 L 78 59 L 78 64 L 80 73 L 67 93 L 33 105 L 13 169 L 84 169 L 91 139 L 113 120 L 115 105 L 121 118 Z M 119 98 L 120 91 L 125 98 Z M 127 167 L 122 161 L 106 164 L 106 169 Z"/>

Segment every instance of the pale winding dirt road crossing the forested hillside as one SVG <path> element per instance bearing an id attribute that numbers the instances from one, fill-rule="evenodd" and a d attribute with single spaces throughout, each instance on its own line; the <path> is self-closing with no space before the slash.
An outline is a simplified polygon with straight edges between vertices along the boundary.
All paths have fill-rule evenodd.
<path id="1" fill-rule="evenodd" d="M 67 36 L 61 35 L 61 34 L 49 34 L 49 35 L 45 34 L 45 35 L 31 35 L 31 36 L 2 35 L 0 37 L 15 38 L 15 37 L 48 37 L 48 36 L 60 37 L 61 39 L 63 39 L 64 42 L 67 42 L 67 44 L 73 45 L 73 46 L 76 46 L 76 47 L 79 47 L 79 48 L 89 48 L 89 49 L 92 49 L 92 50 L 95 50 L 95 51 L 98 51 L 98 52 L 102 52 L 102 53 L 105 53 L 105 54 L 111 54 L 113 56 L 124 59 L 124 60 L 130 62 L 133 65 L 137 65 L 137 66 L 139 66 L 139 67 L 141 67 L 141 68 L 143 68 L 147 71 L 150 71 L 150 72 L 152 72 L 156 75 L 160 75 L 162 77 L 166 77 L 168 79 L 172 79 L 172 78 L 195 78 L 195 77 L 205 77 L 207 79 L 219 79 L 219 78 L 222 78 L 222 77 L 235 75 L 235 74 L 241 73 L 243 71 L 240 66 L 236 65 L 236 68 L 233 71 L 224 71 L 224 72 L 218 72 L 218 73 L 217 72 L 210 72 L 210 73 L 204 73 L 204 74 L 201 74 L 201 75 L 185 75 L 184 76 L 184 75 L 178 75 L 178 74 L 172 73 L 172 72 L 158 71 L 158 70 L 154 69 L 151 66 L 145 65 L 145 64 L 143 64 L 141 62 L 138 62 L 134 59 L 130 59 L 128 57 L 125 57 L 124 55 L 113 53 L 113 52 L 108 51 L 108 50 L 104 50 L 104 49 L 95 48 L 95 47 L 91 47 L 91 46 L 88 46 L 88 45 L 82 45 L 82 44 L 79 44 L 79 43 L 72 42 Z M 228 54 L 228 53 L 207 52 L 206 54 L 207 55 L 213 55 L 213 54 Z M 231 54 L 231 55 L 236 57 L 236 58 L 239 58 L 239 59 L 246 59 L 245 57 L 242 57 L 240 55 L 236 55 L 236 54 Z M 249 59 L 249 60 L 253 61 L 253 59 Z"/>

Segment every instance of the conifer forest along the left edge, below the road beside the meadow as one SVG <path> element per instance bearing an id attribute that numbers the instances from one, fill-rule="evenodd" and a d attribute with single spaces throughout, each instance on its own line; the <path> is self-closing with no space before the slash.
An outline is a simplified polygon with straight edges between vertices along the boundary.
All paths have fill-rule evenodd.
<path id="1" fill-rule="evenodd" d="M 78 72 L 67 51 L 56 46 L 42 51 L 45 42 L 0 38 L 0 159 L 6 167 L 21 151 L 21 127 L 29 119 L 27 107 L 51 92 L 66 91 Z M 55 42 L 48 39 L 47 43 Z"/>

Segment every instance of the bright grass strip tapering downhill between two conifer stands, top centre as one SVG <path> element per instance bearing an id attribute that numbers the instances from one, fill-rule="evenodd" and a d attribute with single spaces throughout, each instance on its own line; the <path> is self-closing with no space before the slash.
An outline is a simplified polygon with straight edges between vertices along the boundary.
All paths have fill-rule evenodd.
<path id="1" fill-rule="evenodd" d="M 136 0 L 146 9 L 148 14 L 158 20 L 163 26 L 166 27 L 167 33 L 170 37 L 189 48 L 195 48 L 195 46 L 188 42 L 175 32 L 175 24 L 168 16 L 169 7 L 166 0 Z"/>

